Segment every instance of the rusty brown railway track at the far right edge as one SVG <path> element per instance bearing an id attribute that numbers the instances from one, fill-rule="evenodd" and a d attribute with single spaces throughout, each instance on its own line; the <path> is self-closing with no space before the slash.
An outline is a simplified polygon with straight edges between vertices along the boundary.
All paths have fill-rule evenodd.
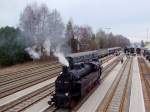
<path id="1" fill-rule="evenodd" d="M 146 112 L 150 111 L 150 68 L 144 58 L 138 58 Z"/>

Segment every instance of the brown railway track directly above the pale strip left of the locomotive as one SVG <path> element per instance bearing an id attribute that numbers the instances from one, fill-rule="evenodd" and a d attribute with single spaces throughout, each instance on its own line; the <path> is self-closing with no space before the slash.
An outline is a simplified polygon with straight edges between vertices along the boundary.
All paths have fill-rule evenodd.
<path id="1" fill-rule="evenodd" d="M 48 70 L 47 72 L 42 72 L 41 74 L 35 75 L 35 77 L 29 77 L 27 80 L 21 80 L 18 83 L 15 82 L 14 84 L 11 84 L 7 87 L 5 86 L 3 88 L 0 88 L 0 98 L 6 97 L 17 91 L 23 90 L 40 82 L 56 77 L 60 71 L 61 69 L 55 69 L 51 72 L 49 72 Z"/>

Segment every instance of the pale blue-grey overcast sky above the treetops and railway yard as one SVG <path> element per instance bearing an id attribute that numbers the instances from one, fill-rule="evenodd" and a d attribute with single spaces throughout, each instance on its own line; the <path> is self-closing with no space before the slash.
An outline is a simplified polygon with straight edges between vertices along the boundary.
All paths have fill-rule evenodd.
<path id="1" fill-rule="evenodd" d="M 64 23 L 72 18 L 75 24 L 88 24 L 94 31 L 101 28 L 131 41 L 147 40 L 150 0 L 0 0 L 0 27 L 17 26 L 23 9 L 33 2 L 56 8 Z M 108 31 L 106 27 L 111 29 Z"/>

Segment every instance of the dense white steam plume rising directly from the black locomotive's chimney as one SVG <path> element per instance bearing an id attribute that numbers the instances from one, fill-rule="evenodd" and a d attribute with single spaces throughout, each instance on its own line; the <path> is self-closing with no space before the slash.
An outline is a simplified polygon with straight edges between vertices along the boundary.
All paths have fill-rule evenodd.
<path id="1" fill-rule="evenodd" d="M 60 52 L 60 47 L 58 47 L 58 48 L 56 49 L 56 52 L 54 52 L 54 56 L 56 56 L 56 57 L 58 58 L 58 61 L 59 61 L 61 64 L 63 64 L 63 65 L 65 65 L 65 66 L 69 67 L 69 62 L 68 62 L 67 59 L 65 58 L 64 54 L 63 54 L 62 52 Z"/>

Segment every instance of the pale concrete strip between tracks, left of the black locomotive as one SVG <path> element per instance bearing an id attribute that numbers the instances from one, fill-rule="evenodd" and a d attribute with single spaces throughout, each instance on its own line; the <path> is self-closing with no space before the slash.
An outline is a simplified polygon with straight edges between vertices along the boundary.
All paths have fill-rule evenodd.
<path id="1" fill-rule="evenodd" d="M 34 86 L 31 86 L 31 87 L 29 87 L 27 89 L 24 89 L 24 90 L 21 90 L 19 92 L 16 92 L 16 93 L 14 93 L 12 95 L 9 95 L 9 96 L 6 96 L 4 98 L 1 98 L 0 99 L 0 106 L 3 106 L 5 104 L 7 104 L 7 103 L 10 103 L 11 101 L 14 101 L 14 100 L 16 100 L 16 99 L 18 99 L 18 98 L 20 98 L 22 96 L 25 96 L 25 95 L 27 95 L 27 94 L 29 94 L 31 92 L 36 91 L 37 89 L 40 89 L 40 88 L 42 88 L 42 87 L 44 87 L 44 86 L 46 86 L 46 85 L 48 85 L 50 83 L 53 83 L 56 80 L 56 78 L 57 77 L 51 78 L 51 79 L 46 80 L 46 81 L 44 81 L 42 83 L 36 84 Z"/>

